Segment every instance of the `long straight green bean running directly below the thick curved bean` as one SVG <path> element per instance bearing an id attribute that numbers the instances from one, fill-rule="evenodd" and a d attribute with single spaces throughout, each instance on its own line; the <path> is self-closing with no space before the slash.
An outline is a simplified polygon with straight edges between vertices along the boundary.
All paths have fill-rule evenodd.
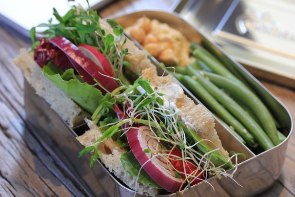
<path id="1" fill-rule="evenodd" d="M 260 146 L 264 150 L 269 150 L 274 147 L 274 144 L 263 131 L 263 129 L 256 123 L 247 112 L 242 109 L 230 96 L 225 94 L 212 82 L 207 80 L 198 71 L 194 70 L 191 66 L 187 66 L 187 73 L 190 76 L 196 76 L 196 80 L 212 94 L 218 102 L 220 102 L 226 109 L 228 109 L 241 123 L 248 129 L 249 132 L 256 138 Z"/>

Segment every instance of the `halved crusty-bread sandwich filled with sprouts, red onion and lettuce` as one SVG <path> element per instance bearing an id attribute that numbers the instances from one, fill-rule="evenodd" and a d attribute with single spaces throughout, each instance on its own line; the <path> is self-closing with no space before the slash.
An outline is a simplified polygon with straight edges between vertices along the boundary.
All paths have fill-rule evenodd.
<path id="1" fill-rule="evenodd" d="M 113 20 L 73 6 L 44 37 L 20 49 L 13 62 L 25 79 L 74 128 L 91 154 L 141 195 L 177 193 L 212 175 L 229 175 L 232 157 L 215 120 L 169 74 L 158 75 L 150 54 Z M 165 72 L 164 72 L 165 73 Z M 230 175 L 231 176 L 231 175 Z"/>

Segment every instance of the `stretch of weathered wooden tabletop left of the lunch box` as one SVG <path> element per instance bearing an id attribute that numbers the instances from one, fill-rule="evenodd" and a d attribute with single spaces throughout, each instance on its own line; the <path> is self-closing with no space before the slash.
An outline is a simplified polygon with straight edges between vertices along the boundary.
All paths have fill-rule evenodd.
<path id="1" fill-rule="evenodd" d="M 2 28 L 0 34 L 0 194 L 84 196 L 26 126 L 23 76 L 11 60 L 30 43 Z"/>

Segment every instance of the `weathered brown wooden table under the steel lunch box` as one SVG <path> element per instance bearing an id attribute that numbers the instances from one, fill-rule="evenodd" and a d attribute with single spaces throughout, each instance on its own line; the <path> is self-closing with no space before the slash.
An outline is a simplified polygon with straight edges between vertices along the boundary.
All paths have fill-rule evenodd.
<path id="1" fill-rule="evenodd" d="M 173 0 L 119 0 L 99 15 L 108 17 L 141 8 L 168 10 L 172 4 Z M 79 185 L 67 176 L 27 125 L 23 77 L 11 59 L 19 54 L 20 47 L 28 48 L 30 44 L 28 39 L 0 28 L 0 196 L 83 196 Z M 261 82 L 295 117 L 295 89 Z M 293 132 L 279 179 L 259 196 L 295 196 L 294 151 Z"/>

